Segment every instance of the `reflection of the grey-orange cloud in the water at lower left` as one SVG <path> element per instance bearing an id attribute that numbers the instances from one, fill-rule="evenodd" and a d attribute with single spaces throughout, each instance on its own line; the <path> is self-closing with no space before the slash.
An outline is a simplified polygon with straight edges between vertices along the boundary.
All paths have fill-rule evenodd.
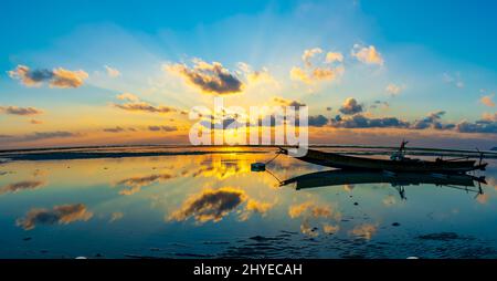
<path id="1" fill-rule="evenodd" d="M 24 218 L 17 220 L 17 225 L 31 230 L 36 225 L 68 225 L 77 220 L 87 221 L 92 217 L 93 212 L 83 204 L 60 205 L 52 209 L 31 209 Z"/>

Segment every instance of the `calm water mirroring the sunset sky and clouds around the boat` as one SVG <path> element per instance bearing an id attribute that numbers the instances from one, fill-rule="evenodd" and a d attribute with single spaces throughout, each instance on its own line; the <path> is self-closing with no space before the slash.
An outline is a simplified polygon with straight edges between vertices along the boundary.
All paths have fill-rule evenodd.
<path id="1" fill-rule="evenodd" d="M 497 258 L 495 160 L 483 195 L 339 173 L 297 189 L 278 180 L 327 169 L 251 171 L 271 152 L 0 164 L 0 258 Z"/>

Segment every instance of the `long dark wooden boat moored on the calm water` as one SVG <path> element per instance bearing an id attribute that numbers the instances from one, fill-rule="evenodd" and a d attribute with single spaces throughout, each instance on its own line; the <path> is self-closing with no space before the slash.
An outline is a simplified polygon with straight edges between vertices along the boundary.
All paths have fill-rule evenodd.
<path id="1" fill-rule="evenodd" d="M 392 173 L 441 173 L 441 174 L 463 174 L 470 170 L 485 170 L 487 163 L 478 164 L 470 159 L 442 159 L 422 160 L 405 157 L 405 144 L 395 152 L 390 159 L 373 159 L 366 157 L 349 156 L 338 153 L 325 153 L 308 149 L 307 154 L 296 157 L 299 160 L 340 169 L 359 170 L 384 170 Z M 288 155 L 288 149 L 281 147 L 281 154 Z"/>

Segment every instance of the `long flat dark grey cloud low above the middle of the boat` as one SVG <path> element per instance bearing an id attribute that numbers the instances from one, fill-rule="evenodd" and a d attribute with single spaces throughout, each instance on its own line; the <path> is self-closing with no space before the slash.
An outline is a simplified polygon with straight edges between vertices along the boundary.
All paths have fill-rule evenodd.
<path id="1" fill-rule="evenodd" d="M 410 123 L 401 121 L 396 117 L 369 118 L 358 114 L 350 117 L 341 117 L 340 115 L 337 115 L 331 119 L 330 125 L 337 128 L 408 128 Z"/>

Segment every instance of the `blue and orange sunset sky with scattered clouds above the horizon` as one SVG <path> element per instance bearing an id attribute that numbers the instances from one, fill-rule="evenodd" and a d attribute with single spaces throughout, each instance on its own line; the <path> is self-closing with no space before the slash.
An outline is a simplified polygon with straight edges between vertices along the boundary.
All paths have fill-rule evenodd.
<path id="1" fill-rule="evenodd" d="M 496 11 L 485 0 L 6 0 L 0 148 L 188 144 L 190 110 L 223 97 L 307 105 L 315 144 L 489 149 Z"/>

